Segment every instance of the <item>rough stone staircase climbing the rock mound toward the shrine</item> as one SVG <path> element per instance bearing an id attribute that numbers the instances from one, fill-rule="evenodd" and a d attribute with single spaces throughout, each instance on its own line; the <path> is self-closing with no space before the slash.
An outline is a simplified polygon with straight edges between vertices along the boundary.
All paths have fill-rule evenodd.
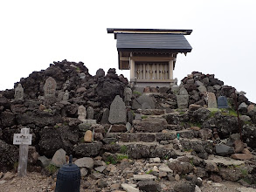
<path id="1" fill-rule="evenodd" d="M 112 133 L 110 130 L 105 140 L 111 141 L 112 145 L 126 148 L 124 153 L 135 159 L 176 158 L 195 149 L 196 153 L 205 152 L 198 147 L 206 143 L 199 138 L 199 131 L 168 124 L 163 118 L 166 113 L 163 112 L 164 110 L 143 110 L 141 114 L 146 115 L 141 120 L 133 120 L 131 132 Z"/>

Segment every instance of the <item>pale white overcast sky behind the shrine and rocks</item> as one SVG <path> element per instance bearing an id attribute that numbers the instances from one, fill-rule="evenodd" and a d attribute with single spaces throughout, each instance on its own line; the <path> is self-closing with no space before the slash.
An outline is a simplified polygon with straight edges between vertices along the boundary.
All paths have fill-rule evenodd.
<path id="1" fill-rule="evenodd" d="M 0 2 L 0 21 L 0 90 L 63 59 L 92 75 L 117 68 L 107 28 L 190 29 L 193 50 L 177 57 L 174 77 L 213 73 L 256 102 L 255 0 L 10 0 Z"/>

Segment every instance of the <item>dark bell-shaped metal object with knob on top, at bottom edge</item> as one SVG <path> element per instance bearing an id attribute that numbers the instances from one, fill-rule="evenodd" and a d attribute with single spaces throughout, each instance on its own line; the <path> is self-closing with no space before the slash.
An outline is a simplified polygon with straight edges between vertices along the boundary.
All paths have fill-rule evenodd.
<path id="1" fill-rule="evenodd" d="M 59 168 L 55 192 L 80 192 L 80 168 L 72 163 L 72 155 L 69 164 Z"/>

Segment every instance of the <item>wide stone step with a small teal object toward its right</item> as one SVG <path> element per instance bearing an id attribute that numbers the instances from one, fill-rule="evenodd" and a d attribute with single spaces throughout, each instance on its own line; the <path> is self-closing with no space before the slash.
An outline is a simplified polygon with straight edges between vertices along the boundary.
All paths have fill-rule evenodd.
<path id="1" fill-rule="evenodd" d="M 197 138 L 198 132 L 190 129 L 183 129 L 180 131 L 167 131 L 166 133 L 108 133 L 107 138 L 115 138 L 121 142 L 160 142 L 170 141 L 177 138 Z"/>

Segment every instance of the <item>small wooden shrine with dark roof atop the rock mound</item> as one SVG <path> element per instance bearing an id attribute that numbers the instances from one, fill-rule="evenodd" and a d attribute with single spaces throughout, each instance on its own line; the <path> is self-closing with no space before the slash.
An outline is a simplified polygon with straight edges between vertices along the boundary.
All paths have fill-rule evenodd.
<path id="1" fill-rule="evenodd" d="M 130 70 L 135 86 L 171 86 L 178 53 L 192 50 L 184 35 L 191 30 L 107 28 L 117 39 L 120 70 Z"/>

